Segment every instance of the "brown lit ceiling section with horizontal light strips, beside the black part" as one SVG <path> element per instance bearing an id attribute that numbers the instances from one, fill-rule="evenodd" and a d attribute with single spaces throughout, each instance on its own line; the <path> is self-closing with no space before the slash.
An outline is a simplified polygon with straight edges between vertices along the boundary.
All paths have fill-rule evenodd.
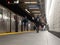
<path id="1" fill-rule="evenodd" d="M 34 17 L 38 15 L 46 22 L 46 15 L 45 15 L 45 0 L 20 0 L 23 3 L 23 9 L 32 14 Z M 21 4 L 22 4 L 21 3 Z"/>

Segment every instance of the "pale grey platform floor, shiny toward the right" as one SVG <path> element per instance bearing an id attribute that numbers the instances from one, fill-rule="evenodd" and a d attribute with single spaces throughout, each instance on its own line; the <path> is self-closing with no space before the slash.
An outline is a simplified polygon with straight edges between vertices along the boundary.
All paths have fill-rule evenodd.
<path id="1" fill-rule="evenodd" d="M 60 45 L 60 38 L 48 31 L 31 32 L 0 37 L 0 45 Z"/>

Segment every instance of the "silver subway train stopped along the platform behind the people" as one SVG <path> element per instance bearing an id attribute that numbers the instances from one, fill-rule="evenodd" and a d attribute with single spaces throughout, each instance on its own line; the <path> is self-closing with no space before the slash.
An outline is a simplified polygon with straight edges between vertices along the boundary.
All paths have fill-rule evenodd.
<path id="1" fill-rule="evenodd" d="M 22 19 L 24 17 L 15 14 L 14 12 L 8 10 L 7 8 L 0 5 L 0 32 L 16 32 L 15 16 L 17 15 L 18 20 L 18 31 L 24 31 L 24 26 L 22 26 Z M 28 30 L 33 30 L 32 26 L 34 24 L 28 21 Z M 27 29 L 25 29 L 27 30 Z"/>

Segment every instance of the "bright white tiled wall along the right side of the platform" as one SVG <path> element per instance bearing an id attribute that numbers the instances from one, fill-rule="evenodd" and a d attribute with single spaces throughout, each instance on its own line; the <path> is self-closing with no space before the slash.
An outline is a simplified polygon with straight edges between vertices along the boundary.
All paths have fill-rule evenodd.
<path id="1" fill-rule="evenodd" d="M 53 0 L 48 24 L 51 31 L 60 32 L 60 0 Z"/>

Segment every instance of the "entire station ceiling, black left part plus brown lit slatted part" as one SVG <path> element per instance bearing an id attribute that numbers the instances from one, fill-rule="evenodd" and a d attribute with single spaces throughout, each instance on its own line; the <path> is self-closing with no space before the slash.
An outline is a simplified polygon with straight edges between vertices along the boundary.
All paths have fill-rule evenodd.
<path id="1" fill-rule="evenodd" d="M 34 20 L 32 19 L 33 16 L 39 15 L 40 17 L 41 16 L 45 17 L 44 2 L 45 2 L 44 0 L 4 0 L 4 1 L 1 0 L 0 1 L 0 3 L 5 7 L 9 8 L 10 10 L 12 10 L 17 14 L 21 14 L 21 16 L 27 16 L 28 19 L 30 20 Z"/>

